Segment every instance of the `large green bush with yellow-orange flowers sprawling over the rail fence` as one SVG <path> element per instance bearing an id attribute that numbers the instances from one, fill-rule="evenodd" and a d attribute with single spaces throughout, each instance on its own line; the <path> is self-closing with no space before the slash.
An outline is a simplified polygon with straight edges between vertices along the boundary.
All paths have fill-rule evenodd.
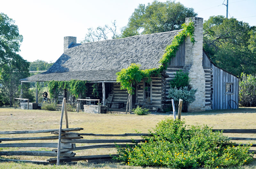
<path id="1" fill-rule="evenodd" d="M 189 130 L 186 130 L 188 128 Z M 208 126 L 186 126 L 184 121 L 166 118 L 143 137 L 144 143 L 126 148 L 117 146 L 114 157 L 126 165 L 170 168 L 221 168 L 253 160 L 250 145 L 235 147 L 222 132 Z"/>

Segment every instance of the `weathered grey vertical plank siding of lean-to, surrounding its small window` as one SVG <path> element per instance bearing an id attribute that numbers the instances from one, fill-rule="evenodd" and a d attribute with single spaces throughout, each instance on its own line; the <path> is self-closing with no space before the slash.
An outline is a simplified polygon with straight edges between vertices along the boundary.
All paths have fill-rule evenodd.
<path id="1" fill-rule="evenodd" d="M 239 79 L 220 69 L 219 67 L 212 66 L 213 74 L 213 94 L 212 94 L 212 109 L 236 109 L 236 103 L 238 104 L 238 81 Z M 233 84 L 234 94 L 225 94 L 226 84 L 225 82 L 231 82 Z M 229 101 L 229 100 L 234 100 Z M 230 106 L 228 105 L 228 102 Z"/>

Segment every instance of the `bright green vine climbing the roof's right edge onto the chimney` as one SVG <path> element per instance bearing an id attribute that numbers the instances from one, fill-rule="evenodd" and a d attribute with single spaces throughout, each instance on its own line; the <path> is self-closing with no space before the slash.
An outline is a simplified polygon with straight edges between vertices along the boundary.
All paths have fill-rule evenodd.
<path id="1" fill-rule="evenodd" d="M 132 84 L 140 82 L 142 79 L 146 78 L 147 81 L 151 81 L 152 76 L 159 75 L 162 71 L 167 69 L 168 63 L 172 58 L 175 57 L 179 46 L 184 42 L 187 36 L 190 36 L 190 42 L 195 43 L 194 39 L 194 23 L 190 22 L 188 24 L 182 24 L 182 31 L 178 33 L 172 40 L 172 43 L 165 48 L 165 53 L 162 59 L 159 61 L 160 66 L 153 69 L 141 70 L 139 64 L 132 63 L 129 67 L 122 69 L 117 72 L 116 81 L 120 83 L 121 89 L 127 89 L 129 94 L 134 94 L 134 88 Z"/>

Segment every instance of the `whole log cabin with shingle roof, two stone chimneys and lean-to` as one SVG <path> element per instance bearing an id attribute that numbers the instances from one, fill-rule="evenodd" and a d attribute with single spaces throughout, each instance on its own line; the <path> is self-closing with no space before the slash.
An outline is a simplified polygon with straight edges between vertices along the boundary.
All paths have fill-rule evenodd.
<path id="1" fill-rule="evenodd" d="M 191 85 L 197 88 L 196 101 L 188 108 L 190 112 L 238 108 L 236 103 L 238 104 L 239 78 L 216 66 L 204 51 L 203 18 L 186 18 L 186 23 L 188 22 L 194 22 L 196 43 L 192 44 L 190 37 L 187 37 L 161 76 L 152 77 L 150 83 L 144 79 L 133 85 L 133 107 L 138 100 L 149 98 L 148 109 L 163 111 L 168 108 L 171 104 L 170 98 L 167 97 L 170 81 L 176 71 L 183 70 L 188 72 Z M 88 82 L 88 96 L 91 98 L 92 84 L 97 83 L 100 99 L 113 94 L 113 105 L 125 106 L 128 94 L 126 90 L 120 89 L 120 84 L 116 82 L 116 73 L 131 63 L 140 64 L 141 69 L 158 68 L 166 46 L 172 43 L 172 39 L 180 31 L 83 44 L 76 43 L 76 37 L 64 37 L 64 53 L 52 67 L 44 73 L 20 81 L 83 80 Z M 63 92 L 63 96 L 67 97 L 67 92 Z"/>

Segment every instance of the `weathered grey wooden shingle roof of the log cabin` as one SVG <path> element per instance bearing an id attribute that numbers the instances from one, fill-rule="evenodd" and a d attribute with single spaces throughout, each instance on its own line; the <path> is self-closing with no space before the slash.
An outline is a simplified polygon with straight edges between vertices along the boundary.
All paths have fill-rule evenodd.
<path id="1" fill-rule="evenodd" d="M 72 44 L 48 71 L 21 81 L 115 81 L 116 72 L 131 63 L 157 68 L 165 47 L 181 30 Z"/>

